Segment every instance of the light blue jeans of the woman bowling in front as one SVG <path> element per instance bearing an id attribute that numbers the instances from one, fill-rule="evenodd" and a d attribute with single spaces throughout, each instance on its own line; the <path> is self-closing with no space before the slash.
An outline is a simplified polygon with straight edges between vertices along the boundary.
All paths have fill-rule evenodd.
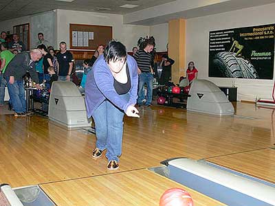
<path id="1" fill-rule="evenodd" d="M 120 97 L 129 101 L 130 95 L 126 93 Z M 122 153 L 123 117 L 124 111 L 109 100 L 104 100 L 93 114 L 96 147 L 100 150 L 107 149 L 106 157 L 109 161 L 119 161 L 118 157 Z"/>

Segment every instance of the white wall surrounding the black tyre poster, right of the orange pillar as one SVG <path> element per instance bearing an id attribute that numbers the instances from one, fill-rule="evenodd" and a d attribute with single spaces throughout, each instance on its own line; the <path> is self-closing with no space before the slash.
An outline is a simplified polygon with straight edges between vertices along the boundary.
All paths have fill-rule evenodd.
<path id="1" fill-rule="evenodd" d="M 274 10 L 275 3 L 188 19 L 186 22 L 186 62 L 194 60 L 199 69 L 198 77 L 209 79 L 220 86 L 231 86 L 232 80 L 235 80 L 239 100 L 271 98 L 273 80 L 208 78 L 208 38 L 212 30 L 274 23 Z"/>

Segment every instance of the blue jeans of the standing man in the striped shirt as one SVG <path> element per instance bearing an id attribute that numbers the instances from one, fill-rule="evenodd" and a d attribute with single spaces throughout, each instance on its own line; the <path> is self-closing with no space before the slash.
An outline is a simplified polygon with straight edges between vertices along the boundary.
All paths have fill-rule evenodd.
<path id="1" fill-rule="evenodd" d="M 152 97 L 153 97 L 153 80 L 154 80 L 154 76 L 152 73 L 149 73 L 149 72 L 140 73 L 140 75 L 138 76 L 137 104 L 141 105 L 142 100 L 144 100 L 143 87 L 144 87 L 145 83 L 147 85 L 146 104 L 145 105 L 151 104 Z"/>

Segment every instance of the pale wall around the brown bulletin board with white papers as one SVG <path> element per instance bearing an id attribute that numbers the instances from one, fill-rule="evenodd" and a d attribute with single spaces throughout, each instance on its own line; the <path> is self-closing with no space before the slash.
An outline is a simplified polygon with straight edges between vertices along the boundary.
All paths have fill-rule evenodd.
<path id="1" fill-rule="evenodd" d="M 124 43 L 128 51 L 137 45 L 141 36 L 149 35 L 148 26 L 123 25 L 122 15 L 96 12 L 56 10 L 57 42 L 65 41 L 69 47 L 69 23 L 109 25 L 113 27 L 113 38 Z"/>

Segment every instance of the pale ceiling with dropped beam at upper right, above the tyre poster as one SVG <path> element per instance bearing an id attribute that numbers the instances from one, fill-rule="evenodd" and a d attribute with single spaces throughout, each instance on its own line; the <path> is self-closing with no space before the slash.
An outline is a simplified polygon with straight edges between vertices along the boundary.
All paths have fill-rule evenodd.
<path id="1" fill-rule="evenodd" d="M 188 7 L 188 3 L 190 5 L 191 2 L 193 2 L 192 8 Z M 198 2 L 205 2 L 205 4 L 199 4 Z M 125 24 L 157 25 L 166 23 L 171 19 L 192 19 L 199 16 L 241 10 L 270 3 L 275 3 L 275 0 L 178 0 L 170 2 L 169 6 L 157 5 L 148 10 L 124 14 L 123 21 Z M 148 15 L 148 13 L 150 15 Z M 264 10 L 263 15 L 265 15 Z M 255 16 L 255 18 L 257 18 L 257 16 Z M 230 19 L 228 19 L 228 21 L 230 21 Z"/>

